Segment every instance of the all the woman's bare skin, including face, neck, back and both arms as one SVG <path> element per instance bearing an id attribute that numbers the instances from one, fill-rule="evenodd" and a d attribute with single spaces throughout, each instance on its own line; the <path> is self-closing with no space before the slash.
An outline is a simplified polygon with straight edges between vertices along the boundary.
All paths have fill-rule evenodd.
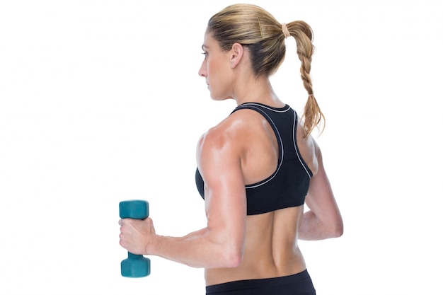
<path id="1" fill-rule="evenodd" d="M 210 33 L 199 71 L 213 100 L 237 105 L 257 102 L 284 107 L 267 76 L 256 77 L 248 51 L 240 44 L 224 52 Z M 240 279 L 281 277 L 306 269 L 297 240 L 343 234 L 343 220 L 330 187 L 321 151 L 299 124 L 297 144 L 314 176 L 306 206 L 246 216 L 245 185 L 267 178 L 277 168 L 277 139 L 265 118 L 238 110 L 202 135 L 197 166 L 205 180 L 207 226 L 183 237 L 156 234 L 151 218 L 120 220 L 120 245 L 135 254 L 204 267 L 207 285 Z"/>

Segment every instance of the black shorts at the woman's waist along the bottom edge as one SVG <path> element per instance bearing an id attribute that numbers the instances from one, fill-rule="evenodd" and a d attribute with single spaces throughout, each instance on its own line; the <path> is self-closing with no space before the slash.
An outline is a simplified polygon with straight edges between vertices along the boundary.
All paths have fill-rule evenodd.
<path id="1" fill-rule="evenodd" d="M 307 270 L 287 277 L 246 279 L 206 287 L 207 295 L 315 295 Z"/>

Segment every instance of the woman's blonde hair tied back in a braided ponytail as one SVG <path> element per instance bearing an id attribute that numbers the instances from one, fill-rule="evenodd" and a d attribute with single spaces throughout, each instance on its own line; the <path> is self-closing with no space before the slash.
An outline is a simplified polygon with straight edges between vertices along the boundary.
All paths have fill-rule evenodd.
<path id="1" fill-rule="evenodd" d="M 222 50 L 231 50 L 234 43 L 248 48 L 255 76 L 270 76 L 277 71 L 286 54 L 284 25 L 297 42 L 301 79 L 308 92 L 303 113 L 307 137 L 322 119 L 325 120 L 313 96 L 310 72 L 314 47 L 311 27 L 304 21 L 279 23 L 265 9 L 253 4 L 234 4 L 209 19 L 207 32 L 212 34 Z"/>

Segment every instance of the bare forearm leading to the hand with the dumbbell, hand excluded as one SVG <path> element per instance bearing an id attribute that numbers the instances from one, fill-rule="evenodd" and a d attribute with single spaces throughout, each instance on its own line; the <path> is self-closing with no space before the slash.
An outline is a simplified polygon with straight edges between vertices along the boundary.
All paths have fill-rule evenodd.
<path id="1" fill-rule="evenodd" d="M 238 264 L 229 245 L 217 243 L 209 229 L 201 229 L 183 237 L 156 236 L 150 255 L 156 255 L 190 267 L 234 267 Z"/>

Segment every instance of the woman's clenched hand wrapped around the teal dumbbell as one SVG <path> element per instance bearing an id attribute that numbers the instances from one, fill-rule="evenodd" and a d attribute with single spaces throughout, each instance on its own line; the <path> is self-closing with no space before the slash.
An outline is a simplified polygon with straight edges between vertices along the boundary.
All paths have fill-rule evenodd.
<path id="1" fill-rule="evenodd" d="M 149 217 L 140 219 L 120 219 L 120 245 L 132 254 L 148 255 L 156 236 L 154 223 Z"/>

